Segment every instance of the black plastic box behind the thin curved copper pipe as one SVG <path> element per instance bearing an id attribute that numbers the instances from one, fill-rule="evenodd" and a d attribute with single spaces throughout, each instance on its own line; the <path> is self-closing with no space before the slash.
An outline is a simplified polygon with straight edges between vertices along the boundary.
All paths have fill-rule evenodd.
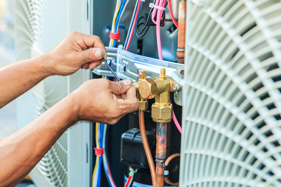
<path id="1" fill-rule="evenodd" d="M 156 134 L 152 131 L 145 132 L 152 156 L 155 156 Z M 140 129 L 133 128 L 122 134 L 120 157 L 121 162 L 124 164 L 144 169 L 149 168 L 148 161 L 145 155 L 145 150 L 141 140 Z"/>

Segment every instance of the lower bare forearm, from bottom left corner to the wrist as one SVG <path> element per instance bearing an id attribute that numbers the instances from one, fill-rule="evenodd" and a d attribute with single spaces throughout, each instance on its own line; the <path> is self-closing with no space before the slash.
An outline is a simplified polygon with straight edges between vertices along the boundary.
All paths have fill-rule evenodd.
<path id="1" fill-rule="evenodd" d="M 20 182 L 76 119 L 72 96 L 48 109 L 33 122 L 0 141 L 0 186 Z"/>

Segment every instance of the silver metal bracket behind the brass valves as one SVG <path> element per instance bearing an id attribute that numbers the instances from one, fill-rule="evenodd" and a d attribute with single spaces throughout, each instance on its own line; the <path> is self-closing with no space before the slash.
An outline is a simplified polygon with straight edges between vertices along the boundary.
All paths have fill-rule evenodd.
<path id="1" fill-rule="evenodd" d="M 177 105 L 183 105 L 185 79 L 180 74 L 184 70 L 183 64 L 136 55 L 119 48 L 106 47 L 106 50 L 107 60 L 111 61 L 111 67 L 120 79 L 132 79 L 133 82 L 137 82 L 139 70 L 146 70 L 147 77 L 158 79 L 161 68 L 165 68 L 166 75 L 181 85 L 181 90 L 174 92 L 174 101 Z M 92 72 L 97 75 L 113 77 L 104 62 Z"/>

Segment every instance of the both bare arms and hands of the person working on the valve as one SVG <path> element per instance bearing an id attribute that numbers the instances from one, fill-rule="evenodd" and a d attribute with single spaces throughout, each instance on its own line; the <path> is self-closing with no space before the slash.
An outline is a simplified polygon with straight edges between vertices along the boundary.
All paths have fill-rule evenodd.
<path id="1" fill-rule="evenodd" d="M 106 58 L 98 36 L 73 32 L 39 57 L 0 68 L 0 108 L 51 75 L 95 69 Z M 15 73 L 16 72 L 16 73 Z M 0 187 L 17 185 L 67 128 L 80 120 L 115 124 L 138 109 L 130 79 L 92 79 L 49 108 L 33 122 L 0 141 Z"/>

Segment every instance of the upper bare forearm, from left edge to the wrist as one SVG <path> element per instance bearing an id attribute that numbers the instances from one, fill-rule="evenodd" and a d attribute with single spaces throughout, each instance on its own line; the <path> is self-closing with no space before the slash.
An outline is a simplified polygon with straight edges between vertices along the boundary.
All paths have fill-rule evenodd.
<path id="1" fill-rule="evenodd" d="M 0 108 L 52 75 L 49 60 L 45 54 L 0 68 Z"/>

